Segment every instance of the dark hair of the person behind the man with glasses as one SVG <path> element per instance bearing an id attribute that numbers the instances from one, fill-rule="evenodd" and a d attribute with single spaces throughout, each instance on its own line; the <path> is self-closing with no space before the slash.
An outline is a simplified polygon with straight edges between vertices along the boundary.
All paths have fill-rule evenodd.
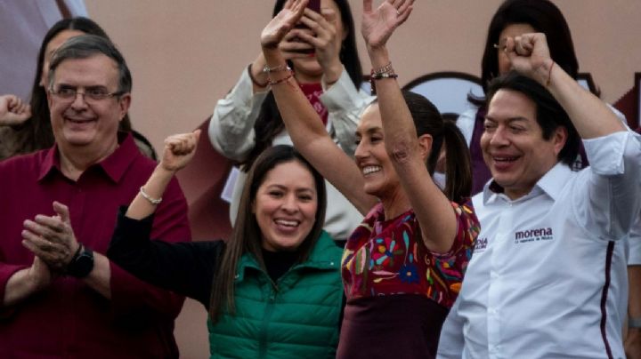
<path id="1" fill-rule="evenodd" d="M 14 126 L 15 130 L 12 140 L 11 156 L 28 154 L 40 149 L 50 148 L 53 146 L 53 130 L 51 127 L 51 119 L 49 113 L 49 104 L 47 103 L 46 90 L 40 82 L 43 74 L 43 65 L 45 62 L 46 46 L 49 44 L 53 37 L 57 36 L 64 30 L 77 30 L 85 34 L 101 36 L 109 39 L 109 36 L 104 30 L 96 24 L 93 20 L 76 17 L 70 19 L 63 19 L 55 24 L 47 31 L 37 57 L 36 76 L 34 77 L 33 86 L 31 87 L 31 117 L 24 123 Z M 129 116 L 126 115 L 120 121 L 120 131 L 130 132 L 131 122 Z"/>

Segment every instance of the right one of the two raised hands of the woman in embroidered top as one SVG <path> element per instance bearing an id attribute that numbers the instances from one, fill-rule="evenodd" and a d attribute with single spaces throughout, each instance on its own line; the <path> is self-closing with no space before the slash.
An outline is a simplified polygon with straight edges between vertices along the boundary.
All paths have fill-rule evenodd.
<path id="1" fill-rule="evenodd" d="M 414 0 L 386 0 L 376 10 L 373 0 L 363 0 L 361 33 L 369 48 L 385 46 L 387 40 L 410 17 Z"/>

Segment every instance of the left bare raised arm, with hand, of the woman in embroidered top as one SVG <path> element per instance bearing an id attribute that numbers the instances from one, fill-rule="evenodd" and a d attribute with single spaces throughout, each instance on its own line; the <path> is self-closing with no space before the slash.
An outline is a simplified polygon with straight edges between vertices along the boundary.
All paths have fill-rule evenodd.
<path id="1" fill-rule="evenodd" d="M 329 137 L 279 49 L 280 41 L 300 20 L 306 4 L 307 0 L 288 0 L 261 35 L 267 67 L 271 68 L 272 92 L 296 149 L 364 214 L 376 199 L 364 193 L 361 172 Z"/>

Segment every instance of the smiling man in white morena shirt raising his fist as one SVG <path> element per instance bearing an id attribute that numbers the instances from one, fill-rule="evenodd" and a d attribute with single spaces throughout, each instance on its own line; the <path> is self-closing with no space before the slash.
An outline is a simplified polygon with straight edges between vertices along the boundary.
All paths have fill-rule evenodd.
<path id="1" fill-rule="evenodd" d="M 481 148 L 492 179 L 441 358 L 623 357 L 626 243 L 641 207 L 641 144 L 550 58 L 507 37 L 515 72 L 490 86 Z M 577 132 L 591 167 L 572 172 Z"/>

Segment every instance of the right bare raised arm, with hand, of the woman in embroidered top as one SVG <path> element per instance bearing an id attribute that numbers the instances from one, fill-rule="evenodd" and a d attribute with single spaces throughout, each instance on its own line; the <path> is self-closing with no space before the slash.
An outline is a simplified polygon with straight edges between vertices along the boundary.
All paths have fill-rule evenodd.
<path id="1" fill-rule="evenodd" d="M 390 66 L 385 44 L 394 30 L 408 19 L 413 3 L 413 0 L 388 0 L 373 9 L 372 0 L 363 1 L 362 36 L 375 72 Z M 457 234 L 457 219 L 450 201 L 427 171 L 426 158 L 431 150 L 432 137 L 417 137 L 410 109 L 403 100 L 393 72 L 388 71 L 387 77 L 375 80 L 385 149 L 423 228 L 421 232 L 426 247 L 431 251 L 449 251 Z"/>

